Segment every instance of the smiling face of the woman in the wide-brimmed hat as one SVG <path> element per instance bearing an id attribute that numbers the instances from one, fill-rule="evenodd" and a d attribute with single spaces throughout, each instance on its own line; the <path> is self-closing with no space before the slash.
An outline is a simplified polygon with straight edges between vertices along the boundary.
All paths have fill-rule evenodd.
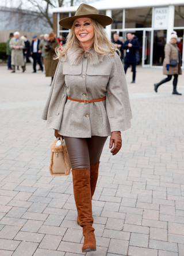
<path id="1" fill-rule="evenodd" d="M 81 42 L 82 47 L 88 46 L 87 48 L 89 48 L 94 42 L 94 28 L 91 19 L 77 18 L 74 22 L 75 36 Z"/>

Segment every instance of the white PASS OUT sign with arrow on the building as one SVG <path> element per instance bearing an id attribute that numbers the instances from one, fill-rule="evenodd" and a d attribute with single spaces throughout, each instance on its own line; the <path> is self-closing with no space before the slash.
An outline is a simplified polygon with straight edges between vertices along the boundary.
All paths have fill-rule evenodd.
<path id="1" fill-rule="evenodd" d="M 168 7 L 155 8 L 154 28 L 167 28 Z"/>

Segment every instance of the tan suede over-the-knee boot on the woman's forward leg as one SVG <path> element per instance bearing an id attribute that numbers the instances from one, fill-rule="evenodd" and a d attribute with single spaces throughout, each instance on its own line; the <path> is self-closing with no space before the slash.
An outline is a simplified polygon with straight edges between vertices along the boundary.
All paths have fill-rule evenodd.
<path id="1" fill-rule="evenodd" d="M 91 205 L 91 187 L 89 168 L 72 170 L 74 198 L 80 225 L 83 228 L 85 241 L 82 252 L 95 251 L 96 240 L 94 235 L 92 205 Z"/>

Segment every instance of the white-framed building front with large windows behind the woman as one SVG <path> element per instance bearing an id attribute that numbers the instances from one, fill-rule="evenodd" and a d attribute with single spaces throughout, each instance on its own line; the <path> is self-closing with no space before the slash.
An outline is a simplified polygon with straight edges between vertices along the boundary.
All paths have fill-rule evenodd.
<path id="1" fill-rule="evenodd" d="M 143 67 L 162 66 L 164 59 L 164 45 L 170 41 L 172 31 L 178 34 L 178 47 L 183 58 L 184 35 L 184 2 L 183 0 L 102 0 L 92 3 L 100 14 L 106 14 L 113 18 L 113 24 L 107 26 L 106 33 L 112 39 L 117 32 L 127 38 L 127 33 L 135 33 L 139 40 L 139 63 Z M 53 29 L 57 36 L 64 37 L 68 29 L 59 25 L 59 20 L 68 16 L 74 16 L 78 6 L 60 7 L 53 10 Z"/>

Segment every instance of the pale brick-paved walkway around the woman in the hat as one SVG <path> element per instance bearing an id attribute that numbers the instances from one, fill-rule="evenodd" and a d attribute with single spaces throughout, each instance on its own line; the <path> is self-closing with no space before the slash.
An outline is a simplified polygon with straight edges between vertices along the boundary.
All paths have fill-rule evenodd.
<path id="1" fill-rule="evenodd" d="M 41 112 L 50 78 L 0 67 L 0 255 L 82 256 L 72 177 L 49 175 L 53 130 Z M 137 69 L 127 81 L 132 128 L 122 149 L 105 145 L 93 197 L 97 251 L 87 256 L 184 255 L 183 96 L 172 84 L 153 91 L 160 69 Z M 184 94 L 184 76 L 178 91 Z"/>

